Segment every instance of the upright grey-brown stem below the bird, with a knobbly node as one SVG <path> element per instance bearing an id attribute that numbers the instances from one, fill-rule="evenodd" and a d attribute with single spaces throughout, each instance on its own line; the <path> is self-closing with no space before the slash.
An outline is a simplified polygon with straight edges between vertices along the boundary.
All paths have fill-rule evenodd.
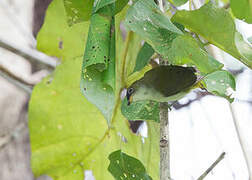
<path id="1" fill-rule="evenodd" d="M 170 176 L 170 144 L 168 103 L 160 103 L 160 180 L 169 180 Z"/>

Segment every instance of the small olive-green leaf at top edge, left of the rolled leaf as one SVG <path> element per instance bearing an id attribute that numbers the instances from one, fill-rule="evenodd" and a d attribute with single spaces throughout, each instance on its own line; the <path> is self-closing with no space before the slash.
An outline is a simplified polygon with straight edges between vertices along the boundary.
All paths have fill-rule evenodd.
<path id="1" fill-rule="evenodd" d="M 69 26 L 89 20 L 94 0 L 63 0 Z"/>

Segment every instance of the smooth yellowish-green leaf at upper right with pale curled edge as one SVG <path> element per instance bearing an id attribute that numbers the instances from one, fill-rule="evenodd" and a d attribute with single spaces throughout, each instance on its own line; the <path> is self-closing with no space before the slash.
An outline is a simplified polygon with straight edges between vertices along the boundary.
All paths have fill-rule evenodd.
<path id="1" fill-rule="evenodd" d="M 236 31 L 231 15 L 211 2 L 194 11 L 177 11 L 172 20 L 201 35 L 210 43 L 252 68 L 252 47 Z"/>

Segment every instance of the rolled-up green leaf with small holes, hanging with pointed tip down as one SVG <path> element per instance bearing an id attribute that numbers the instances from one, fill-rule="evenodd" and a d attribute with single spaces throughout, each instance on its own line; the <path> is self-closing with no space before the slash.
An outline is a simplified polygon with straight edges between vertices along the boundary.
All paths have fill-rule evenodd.
<path id="1" fill-rule="evenodd" d="M 115 101 L 114 19 L 95 13 L 90 22 L 83 58 L 81 91 L 99 108 L 110 124 Z"/>

